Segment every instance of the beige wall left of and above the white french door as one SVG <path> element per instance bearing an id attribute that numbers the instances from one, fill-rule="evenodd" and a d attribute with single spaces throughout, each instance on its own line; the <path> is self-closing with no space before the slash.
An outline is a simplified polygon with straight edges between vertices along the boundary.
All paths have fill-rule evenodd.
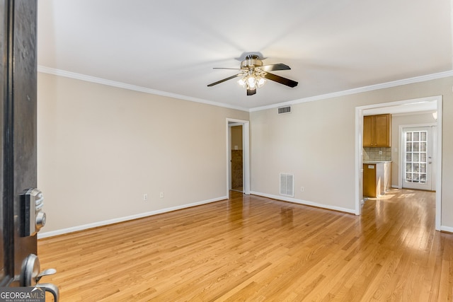
<path id="1" fill-rule="evenodd" d="M 444 115 L 445 116 L 445 115 Z M 401 146 L 398 144 L 399 127 L 411 124 L 433 124 L 436 120 L 432 112 L 423 114 L 393 115 L 391 117 L 391 186 L 398 187 L 398 168 L 400 166 L 399 152 Z"/>

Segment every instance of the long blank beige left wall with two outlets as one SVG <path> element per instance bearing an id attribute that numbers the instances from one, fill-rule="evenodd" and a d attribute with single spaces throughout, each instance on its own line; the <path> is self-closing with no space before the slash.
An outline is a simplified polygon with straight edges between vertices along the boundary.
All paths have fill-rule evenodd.
<path id="1" fill-rule="evenodd" d="M 227 117 L 248 112 L 39 73 L 42 233 L 226 197 Z"/>

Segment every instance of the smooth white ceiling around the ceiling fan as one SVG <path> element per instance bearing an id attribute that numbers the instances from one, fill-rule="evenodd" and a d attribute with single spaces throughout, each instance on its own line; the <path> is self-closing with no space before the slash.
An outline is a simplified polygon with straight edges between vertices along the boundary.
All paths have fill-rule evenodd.
<path id="1" fill-rule="evenodd" d="M 232 108 L 259 108 L 453 69 L 452 0 L 39 0 L 38 65 Z M 247 96 L 244 52 L 299 85 Z M 112 82 L 113 81 L 113 82 Z"/>

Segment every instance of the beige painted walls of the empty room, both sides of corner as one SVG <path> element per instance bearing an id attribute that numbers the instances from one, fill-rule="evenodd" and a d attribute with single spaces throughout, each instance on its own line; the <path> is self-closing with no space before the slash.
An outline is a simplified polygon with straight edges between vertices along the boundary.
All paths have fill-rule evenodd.
<path id="1" fill-rule="evenodd" d="M 442 226 L 453 230 L 452 86 L 450 77 L 301 103 L 287 115 L 251 112 L 252 192 L 278 197 L 279 173 L 294 173 L 294 201 L 352 211 L 355 108 L 443 95 Z M 239 110 L 38 74 L 42 233 L 225 197 L 227 117 L 249 120 Z"/>

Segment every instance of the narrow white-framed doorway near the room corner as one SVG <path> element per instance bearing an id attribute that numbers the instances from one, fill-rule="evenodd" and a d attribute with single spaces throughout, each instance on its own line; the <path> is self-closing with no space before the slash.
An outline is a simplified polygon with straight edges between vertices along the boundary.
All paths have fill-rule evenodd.
<path id="1" fill-rule="evenodd" d="M 226 192 L 250 194 L 249 122 L 226 119 Z"/>

